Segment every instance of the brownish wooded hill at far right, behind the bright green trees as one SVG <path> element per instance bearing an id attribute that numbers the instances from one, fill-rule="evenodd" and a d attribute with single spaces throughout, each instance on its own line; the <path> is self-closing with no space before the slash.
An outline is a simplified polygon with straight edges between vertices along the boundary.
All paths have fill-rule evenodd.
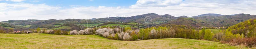
<path id="1" fill-rule="evenodd" d="M 204 14 L 205 15 L 205 14 Z M 214 27 L 222 27 L 222 26 L 232 26 L 238 24 L 240 22 L 244 22 L 245 20 L 256 18 L 256 15 L 250 14 L 234 14 L 234 15 L 205 15 L 205 16 L 195 16 L 194 19 L 203 20 L 205 22 L 209 22 Z"/>

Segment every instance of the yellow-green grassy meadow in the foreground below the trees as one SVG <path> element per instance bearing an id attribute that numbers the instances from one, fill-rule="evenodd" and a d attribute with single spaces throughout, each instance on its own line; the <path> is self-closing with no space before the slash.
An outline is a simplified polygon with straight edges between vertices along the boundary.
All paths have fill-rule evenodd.
<path id="1" fill-rule="evenodd" d="M 0 49 L 17 48 L 246 49 L 244 46 L 228 46 L 213 41 L 179 38 L 117 41 L 98 35 L 0 34 Z"/>

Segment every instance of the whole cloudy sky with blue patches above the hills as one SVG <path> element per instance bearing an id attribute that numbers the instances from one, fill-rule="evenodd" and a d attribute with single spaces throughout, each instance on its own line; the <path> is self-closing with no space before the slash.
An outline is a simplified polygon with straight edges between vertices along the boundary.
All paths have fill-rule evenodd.
<path id="1" fill-rule="evenodd" d="M 0 0 L 0 21 L 256 14 L 256 0 Z"/>

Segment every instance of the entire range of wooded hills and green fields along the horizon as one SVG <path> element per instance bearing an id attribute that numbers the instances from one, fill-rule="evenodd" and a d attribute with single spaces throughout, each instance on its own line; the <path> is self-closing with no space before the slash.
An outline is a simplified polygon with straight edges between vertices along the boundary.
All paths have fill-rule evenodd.
<path id="1" fill-rule="evenodd" d="M 149 25 L 158 24 L 177 24 L 177 25 L 187 25 L 191 27 L 222 27 L 222 26 L 232 26 L 243 22 L 248 19 L 256 18 L 256 15 L 250 14 L 233 14 L 233 15 L 221 15 L 221 14 L 201 14 L 198 16 L 179 16 L 175 17 L 169 14 L 158 15 L 155 13 L 136 15 L 131 17 L 108 17 L 99 19 L 49 19 L 49 20 L 8 20 L 0 22 L 0 26 L 5 28 L 58 28 L 61 26 L 69 25 L 79 25 L 79 24 L 100 24 L 106 22 L 119 22 L 128 23 L 135 22 L 140 24 L 145 24 L 145 17 L 150 17 Z M 57 26 L 56 26 L 57 25 Z M 58 26 L 60 25 L 60 26 Z M 71 26 L 70 26 L 71 27 Z M 78 27 L 78 26 L 73 26 Z"/>

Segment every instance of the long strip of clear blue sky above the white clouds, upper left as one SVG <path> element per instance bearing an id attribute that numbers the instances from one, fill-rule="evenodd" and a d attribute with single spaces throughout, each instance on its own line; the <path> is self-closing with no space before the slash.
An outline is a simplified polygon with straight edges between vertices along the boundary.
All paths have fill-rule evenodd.
<path id="1" fill-rule="evenodd" d="M 22 3 L 31 3 L 31 4 L 46 4 L 50 6 L 61 6 L 68 7 L 71 5 L 80 5 L 80 6 L 108 6 L 108 7 L 117 7 L 125 6 L 128 7 L 136 3 L 137 0 L 25 0 Z M 0 3 L 20 3 L 13 1 L 0 1 Z"/>

